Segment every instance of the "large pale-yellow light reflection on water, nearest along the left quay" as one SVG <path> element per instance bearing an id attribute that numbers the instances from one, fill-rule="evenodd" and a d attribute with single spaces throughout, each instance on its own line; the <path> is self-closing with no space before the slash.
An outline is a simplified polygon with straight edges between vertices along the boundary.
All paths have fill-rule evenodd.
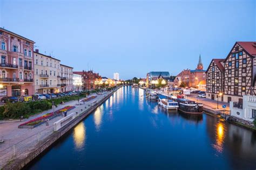
<path id="1" fill-rule="evenodd" d="M 73 140 L 77 149 L 84 146 L 86 139 L 86 128 L 84 122 L 79 123 L 73 132 Z"/>

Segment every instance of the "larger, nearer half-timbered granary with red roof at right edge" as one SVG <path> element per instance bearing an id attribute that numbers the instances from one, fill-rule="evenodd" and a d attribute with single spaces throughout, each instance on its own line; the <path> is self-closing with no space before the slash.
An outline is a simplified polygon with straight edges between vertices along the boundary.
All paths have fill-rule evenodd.
<path id="1" fill-rule="evenodd" d="M 224 101 L 242 103 L 243 95 L 255 95 L 256 42 L 235 42 L 224 61 Z"/>

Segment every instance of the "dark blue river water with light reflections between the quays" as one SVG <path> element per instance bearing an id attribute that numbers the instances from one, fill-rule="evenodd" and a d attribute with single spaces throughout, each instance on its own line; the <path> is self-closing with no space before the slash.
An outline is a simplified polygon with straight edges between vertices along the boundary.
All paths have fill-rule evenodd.
<path id="1" fill-rule="evenodd" d="M 256 169 L 256 134 L 203 114 L 116 91 L 30 169 Z"/>

